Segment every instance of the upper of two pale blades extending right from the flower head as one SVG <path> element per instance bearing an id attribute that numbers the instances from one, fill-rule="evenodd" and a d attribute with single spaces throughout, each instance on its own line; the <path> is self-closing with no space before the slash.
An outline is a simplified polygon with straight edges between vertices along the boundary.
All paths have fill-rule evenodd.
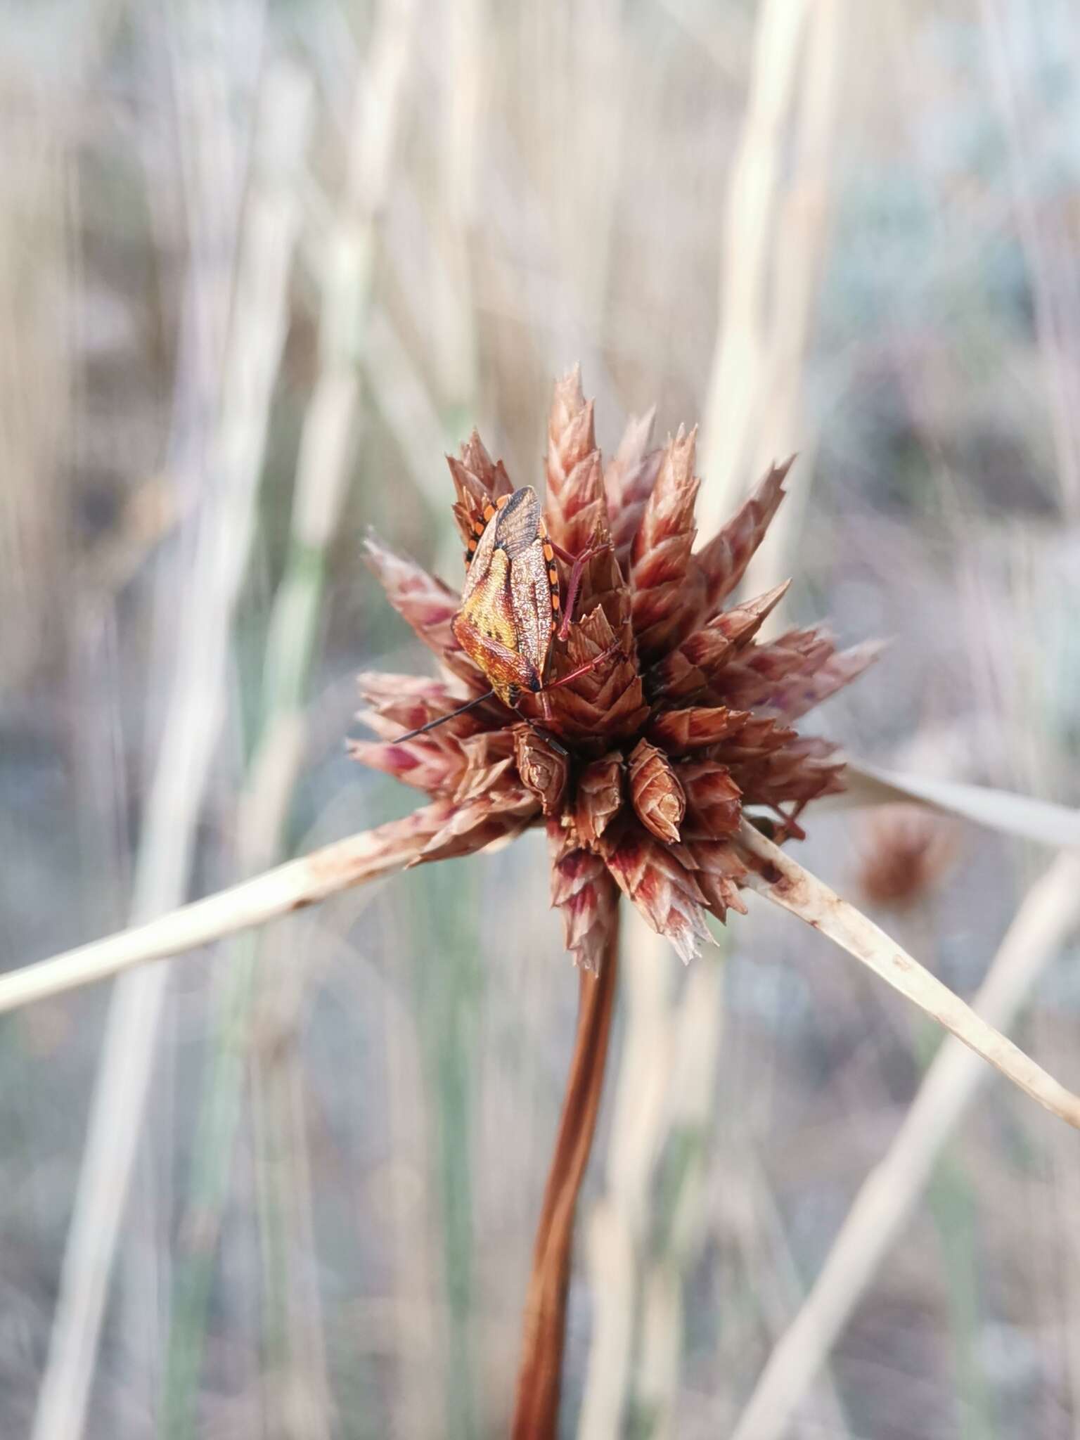
<path id="1" fill-rule="evenodd" d="M 1080 811 L 1067 805 L 988 785 L 965 785 L 929 775 L 901 775 L 863 760 L 845 760 L 842 792 L 828 796 L 818 808 L 858 809 L 912 801 L 1018 840 L 1034 840 L 1040 845 L 1080 845 Z"/>

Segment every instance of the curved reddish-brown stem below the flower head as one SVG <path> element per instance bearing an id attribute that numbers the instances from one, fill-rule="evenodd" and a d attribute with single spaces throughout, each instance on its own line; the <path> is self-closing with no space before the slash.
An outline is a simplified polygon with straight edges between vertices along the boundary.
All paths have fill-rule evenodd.
<path id="1" fill-rule="evenodd" d="M 580 973 L 577 1034 L 533 1246 L 513 1440 L 554 1440 L 557 1428 L 575 1208 L 600 1107 L 618 952 L 616 922 L 599 975 Z"/>

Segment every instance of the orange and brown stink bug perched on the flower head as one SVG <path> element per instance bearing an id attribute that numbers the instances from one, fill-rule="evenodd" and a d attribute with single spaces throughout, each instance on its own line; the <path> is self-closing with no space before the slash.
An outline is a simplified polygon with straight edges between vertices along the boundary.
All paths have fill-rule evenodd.
<path id="1" fill-rule="evenodd" d="M 523 690 L 543 694 L 609 658 L 618 647 L 547 683 L 552 642 L 556 635 L 566 639 L 569 634 L 582 569 L 586 560 L 606 547 L 608 541 L 602 541 L 576 557 L 564 554 L 547 534 L 540 501 L 530 485 L 516 490 L 513 495 L 500 495 L 494 505 L 484 507 L 484 518 L 475 520 L 469 537 L 461 609 L 451 621 L 451 629 L 469 660 L 491 681 L 491 690 L 452 714 L 461 714 L 492 694 L 513 710 Z M 572 567 L 566 606 L 559 593 L 556 552 Z M 399 736 L 399 740 L 409 740 L 449 719 L 449 714 L 439 716 Z"/>

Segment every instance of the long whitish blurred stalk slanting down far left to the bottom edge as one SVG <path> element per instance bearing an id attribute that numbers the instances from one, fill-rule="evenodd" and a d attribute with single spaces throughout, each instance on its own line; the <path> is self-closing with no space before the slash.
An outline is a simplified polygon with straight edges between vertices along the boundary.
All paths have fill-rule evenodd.
<path id="1" fill-rule="evenodd" d="M 200 63 L 209 63 L 202 56 Z M 204 86 L 192 91 L 186 137 L 194 170 L 217 151 L 216 174 L 230 125 L 213 111 Z M 215 488 L 199 521 L 199 547 L 180 619 L 173 690 L 147 804 L 131 904 L 135 933 L 145 916 L 183 899 L 194 831 L 217 744 L 228 672 L 232 616 L 255 524 L 266 420 L 285 333 L 287 282 L 297 233 L 297 171 L 307 143 L 310 86 L 292 68 L 265 81 L 253 158 L 253 187 L 242 220 L 232 294 L 232 325 L 222 361 L 220 422 L 212 448 Z M 207 109 L 207 105 L 210 109 Z M 228 170 L 228 166 L 226 166 Z M 197 180 L 193 207 L 222 204 Z M 216 308 L 226 297 L 197 274 L 193 255 L 190 300 Z M 223 315 L 217 317 L 225 320 Z M 203 357 L 200 364 L 210 364 Z M 203 383 L 210 383 L 203 376 Z M 114 966 L 120 969 L 121 966 Z M 168 972 L 125 976 L 112 998 L 102 1045 L 86 1149 L 60 1274 L 33 1434 L 36 1440 L 78 1437 L 85 1423 L 109 1274 L 128 1197 L 157 1051 Z"/>

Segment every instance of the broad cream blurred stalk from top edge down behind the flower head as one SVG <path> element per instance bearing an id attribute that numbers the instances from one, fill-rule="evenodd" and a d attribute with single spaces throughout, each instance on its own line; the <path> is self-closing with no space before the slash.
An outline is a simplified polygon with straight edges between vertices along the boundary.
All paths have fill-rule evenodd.
<path id="1" fill-rule="evenodd" d="M 703 469 L 713 480 L 700 505 L 708 528 L 770 456 L 799 451 L 804 481 L 750 566 L 752 593 L 792 573 L 789 553 L 809 498 L 814 433 L 804 366 L 828 242 L 840 68 L 854 19 L 844 0 L 763 0 L 757 12 L 707 390 Z"/>

